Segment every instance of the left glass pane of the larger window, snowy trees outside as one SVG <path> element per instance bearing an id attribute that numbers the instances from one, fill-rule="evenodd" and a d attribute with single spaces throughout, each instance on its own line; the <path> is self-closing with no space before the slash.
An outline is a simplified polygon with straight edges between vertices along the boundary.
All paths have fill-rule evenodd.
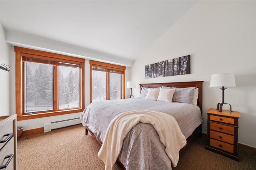
<path id="1" fill-rule="evenodd" d="M 24 113 L 53 110 L 53 65 L 24 62 Z"/>

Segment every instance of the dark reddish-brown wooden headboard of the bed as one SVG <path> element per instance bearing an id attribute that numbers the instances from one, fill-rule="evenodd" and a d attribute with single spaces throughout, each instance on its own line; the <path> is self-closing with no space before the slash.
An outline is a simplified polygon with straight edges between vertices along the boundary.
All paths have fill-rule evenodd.
<path id="1" fill-rule="evenodd" d="M 186 88 L 186 87 L 198 88 L 198 92 L 199 93 L 198 93 L 197 106 L 200 107 L 201 112 L 202 112 L 203 82 L 204 81 L 196 81 L 196 82 L 169 82 L 169 83 L 147 83 L 147 84 L 140 84 L 140 91 L 141 91 L 141 87 L 156 88 L 156 87 L 166 86 L 166 87 L 178 87 L 178 88 Z"/>

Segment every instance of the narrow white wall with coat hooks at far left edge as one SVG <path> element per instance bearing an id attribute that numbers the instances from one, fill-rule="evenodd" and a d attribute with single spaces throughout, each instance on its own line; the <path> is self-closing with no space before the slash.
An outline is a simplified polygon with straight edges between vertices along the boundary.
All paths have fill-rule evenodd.
<path id="1" fill-rule="evenodd" d="M 10 65 L 10 50 L 11 46 L 6 43 L 4 37 L 4 27 L 0 23 L 0 64 L 5 63 Z M 10 68 L 10 72 L 0 70 L 0 115 L 9 115 L 10 114 L 10 75 L 14 68 Z"/>

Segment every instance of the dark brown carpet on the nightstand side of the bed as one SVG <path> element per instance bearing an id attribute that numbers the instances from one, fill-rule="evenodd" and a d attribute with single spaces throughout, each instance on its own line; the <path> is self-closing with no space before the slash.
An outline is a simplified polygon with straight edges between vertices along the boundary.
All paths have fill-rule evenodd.
<path id="1" fill-rule="evenodd" d="M 206 141 L 198 138 L 181 156 L 174 170 L 256 170 L 256 154 L 239 150 L 240 162 L 226 158 L 204 147 Z"/>

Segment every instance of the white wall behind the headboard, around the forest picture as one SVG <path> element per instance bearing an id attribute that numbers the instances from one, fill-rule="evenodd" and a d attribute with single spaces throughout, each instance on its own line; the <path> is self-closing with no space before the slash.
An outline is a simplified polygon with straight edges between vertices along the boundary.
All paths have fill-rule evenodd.
<path id="1" fill-rule="evenodd" d="M 206 118 L 205 111 L 222 98 L 221 90 L 209 87 L 211 74 L 234 73 L 236 87 L 225 90 L 225 102 L 241 112 L 238 142 L 256 147 L 255 6 L 255 1 L 199 1 L 134 62 L 128 79 L 137 83 L 134 96 L 139 83 L 203 80 Z M 145 79 L 146 64 L 184 55 L 191 55 L 191 74 Z"/>

